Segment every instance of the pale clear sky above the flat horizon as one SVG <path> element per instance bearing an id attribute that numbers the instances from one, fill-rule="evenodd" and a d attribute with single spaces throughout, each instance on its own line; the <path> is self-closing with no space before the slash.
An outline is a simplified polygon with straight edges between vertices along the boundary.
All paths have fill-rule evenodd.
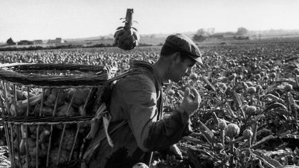
<path id="1" fill-rule="evenodd" d="M 127 8 L 141 35 L 299 29 L 299 0 L 0 0 L 0 41 L 108 35 Z"/>

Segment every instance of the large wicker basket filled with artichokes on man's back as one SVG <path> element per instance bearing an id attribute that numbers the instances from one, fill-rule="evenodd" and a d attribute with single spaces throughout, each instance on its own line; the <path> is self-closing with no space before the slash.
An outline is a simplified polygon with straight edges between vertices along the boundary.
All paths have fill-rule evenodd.
<path id="1" fill-rule="evenodd" d="M 79 64 L 3 64 L 0 105 L 12 167 L 79 167 L 111 71 Z"/>

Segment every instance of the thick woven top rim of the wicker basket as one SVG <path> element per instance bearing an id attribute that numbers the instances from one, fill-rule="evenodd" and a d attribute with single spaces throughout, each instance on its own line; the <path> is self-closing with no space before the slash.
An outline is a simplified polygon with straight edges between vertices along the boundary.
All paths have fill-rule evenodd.
<path id="1" fill-rule="evenodd" d="M 44 75 L 30 71 L 80 71 L 82 75 Z M 17 72 L 18 71 L 18 72 Z M 23 73 L 24 72 L 24 73 Z M 109 79 L 107 66 L 83 64 L 12 63 L 0 66 L 0 80 L 26 86 L 97 86 Z"/>

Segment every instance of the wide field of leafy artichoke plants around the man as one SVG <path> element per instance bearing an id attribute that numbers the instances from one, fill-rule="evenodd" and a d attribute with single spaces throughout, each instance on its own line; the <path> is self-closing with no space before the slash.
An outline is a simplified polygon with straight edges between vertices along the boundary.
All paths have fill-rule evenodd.
<path id="1" fill-rule="evenodd" d="M 152 167 L 299 166 L 299 39 L 199 43 L 199 48 L 206 67 L 196 66 L 190 77 L 165 84 L 163 93 L 165 113 L 179 106 L 186 86 L 201 95 L 191 118 L 194 132 L 177 144 L 183 160 L 168 162 L 154 153 Z M 109 65 L 122 73 L 133 59 L 156 61 L 160 49 L 5 51 L 0 62 Z M 1 167 L 9 162 L 3 131 L 0 135 Z"/>

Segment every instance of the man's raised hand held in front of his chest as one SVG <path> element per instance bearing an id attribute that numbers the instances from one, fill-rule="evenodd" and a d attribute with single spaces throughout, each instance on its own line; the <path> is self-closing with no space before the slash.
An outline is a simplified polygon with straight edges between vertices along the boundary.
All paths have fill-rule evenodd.
<path id="1" fill-rule="evenodd" d="M 190 93 L 190 88 L 185 88 L 185 93 L 183 96 L 183 101 L 179 107 L 179 112 L 183 113 L 184 111 L 188 113 L 189 116 L 192 116 L 195 111 L 199 108 L 201 102 L 201 97 L 195 88 L 192 88 L 192 93 Z"/>

